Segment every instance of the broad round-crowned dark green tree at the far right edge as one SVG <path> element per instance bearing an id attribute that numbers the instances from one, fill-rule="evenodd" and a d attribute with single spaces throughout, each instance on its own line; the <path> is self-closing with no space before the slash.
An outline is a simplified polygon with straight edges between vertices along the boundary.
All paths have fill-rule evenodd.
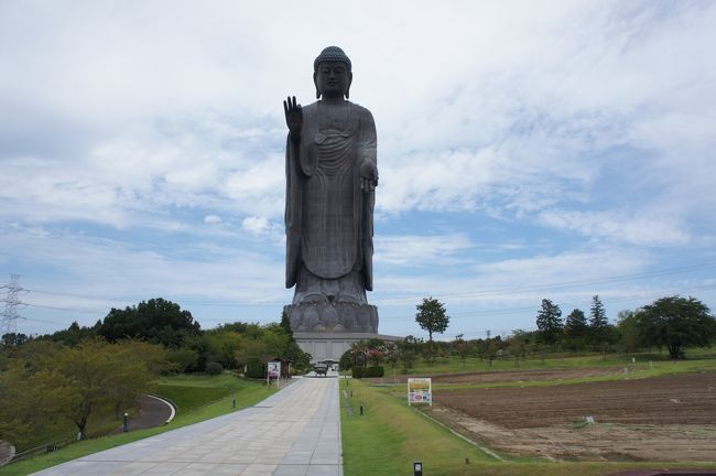
<path id="1" fill-rule="evenodd" d="M 707 347 L 716 337 L 716 318 L 694 298 L 668 296 L 637 312 L 637 328 L 647 345 L 664 345 L 671 358 L 690 346 Z"/>

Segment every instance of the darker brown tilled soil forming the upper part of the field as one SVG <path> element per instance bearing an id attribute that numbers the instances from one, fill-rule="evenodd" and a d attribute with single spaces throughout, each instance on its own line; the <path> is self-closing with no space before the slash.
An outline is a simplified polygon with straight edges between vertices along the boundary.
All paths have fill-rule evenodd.
<path id="1" fill-rule="evenodd" d="M 592 415 L 600 423 L 716 424 L 716 374 L 438 391 L 435 401 L 509 429 Z"/>

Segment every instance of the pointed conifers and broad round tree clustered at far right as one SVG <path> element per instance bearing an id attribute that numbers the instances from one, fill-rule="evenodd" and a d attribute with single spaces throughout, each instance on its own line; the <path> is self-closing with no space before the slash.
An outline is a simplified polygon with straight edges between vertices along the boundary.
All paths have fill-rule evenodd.
<path id="1" fill-rule="evenodd" d="M 694 298 L 662 298 L 637 311 L 621 311 L 618 317 L 617 325 L 610 324 L 601 300 L 595 295 L 588 320 L 575 309 L 563 321 L 560 306 L 544 299 L 536 315 L 538 338 L 554 349 L 592 347 L 606 351 L 617 343 L 627 351 L 665 347 L 671 358 L 680 358 L 684 347 L 708 346 L 716 337 L 716 320 Z"/>

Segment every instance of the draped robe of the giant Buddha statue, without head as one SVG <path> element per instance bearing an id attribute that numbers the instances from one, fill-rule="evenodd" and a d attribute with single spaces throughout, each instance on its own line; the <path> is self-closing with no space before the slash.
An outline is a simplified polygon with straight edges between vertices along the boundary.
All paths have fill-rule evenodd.
<path id="1" fill-rule="evenodd" d="M 286 288 L 294 304 L 366 303 L 372 290 L 375 192 L 360 165 L 376 163 L 370 111 L 350 101 L 303 108 L 301 141 L 286 143 Z"/>

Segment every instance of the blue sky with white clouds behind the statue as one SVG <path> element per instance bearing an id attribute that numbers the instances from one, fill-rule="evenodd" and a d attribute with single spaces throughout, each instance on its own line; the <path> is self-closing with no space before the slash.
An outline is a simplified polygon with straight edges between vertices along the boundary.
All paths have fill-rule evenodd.
<path id="1" fill-rule="evenodd" d="M 716 309 L 716 3 L 0 0 L 0 284 L 28 334 L 165 298 L 280 317 L 281 100 L 351 57 L 378 128 L 380 332 Z M 4 290 L 2 290 L 4 291 Z"/>

